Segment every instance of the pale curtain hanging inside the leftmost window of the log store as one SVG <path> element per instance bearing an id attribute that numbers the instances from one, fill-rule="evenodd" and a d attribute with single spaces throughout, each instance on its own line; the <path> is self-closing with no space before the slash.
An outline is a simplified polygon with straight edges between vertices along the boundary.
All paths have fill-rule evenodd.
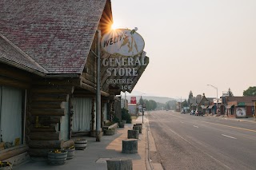
<path id="1" fill-rule="evenodd" d="M 1 86 L 0 86 L 1 87 Z M 2 141 L 22 142 L 22 90 L 2 86 L 1 105 Z"/>

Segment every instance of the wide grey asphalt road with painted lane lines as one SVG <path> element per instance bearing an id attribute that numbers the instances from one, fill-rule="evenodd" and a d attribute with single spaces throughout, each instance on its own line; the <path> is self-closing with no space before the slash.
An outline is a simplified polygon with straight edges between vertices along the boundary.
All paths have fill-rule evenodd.
<path id="1" fill-rule="evenodd" d="M 152 162 L 170 169 L 256 169 L 256 122 L 196 117 L 172 111 L 148 113 L 157 152 Z"/>

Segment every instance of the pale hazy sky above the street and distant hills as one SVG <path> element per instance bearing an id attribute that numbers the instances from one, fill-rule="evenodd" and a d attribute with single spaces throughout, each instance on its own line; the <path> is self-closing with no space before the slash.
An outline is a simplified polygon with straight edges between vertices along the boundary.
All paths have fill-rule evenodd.
<path id="1" fill-rule="evenodd" d="M 138 27 L 150 57 L 134 93 L 234 96 L 256 83 L 255 0 L 111 0 L 114 23 Z"/>

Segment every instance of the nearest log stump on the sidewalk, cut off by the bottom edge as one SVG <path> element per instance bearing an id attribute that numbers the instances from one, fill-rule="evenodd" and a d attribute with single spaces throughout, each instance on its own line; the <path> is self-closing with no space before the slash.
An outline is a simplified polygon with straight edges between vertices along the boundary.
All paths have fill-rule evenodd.
<path id="1" fill-rule="evenodd" d="M 107 170 L 132 170 L 133 162 L 130 158 L 112 158 L 106 160 Z"/>

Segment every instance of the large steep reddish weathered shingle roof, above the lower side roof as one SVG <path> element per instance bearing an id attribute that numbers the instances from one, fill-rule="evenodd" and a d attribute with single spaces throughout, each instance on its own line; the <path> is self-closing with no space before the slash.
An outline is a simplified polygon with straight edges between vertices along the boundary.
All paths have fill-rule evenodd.
<path id="1" fill-rule="evenodd" d="M 82 73 L 105 5 L 106 0 L 0 1 L 0 34 L 45 73 Z"/>

